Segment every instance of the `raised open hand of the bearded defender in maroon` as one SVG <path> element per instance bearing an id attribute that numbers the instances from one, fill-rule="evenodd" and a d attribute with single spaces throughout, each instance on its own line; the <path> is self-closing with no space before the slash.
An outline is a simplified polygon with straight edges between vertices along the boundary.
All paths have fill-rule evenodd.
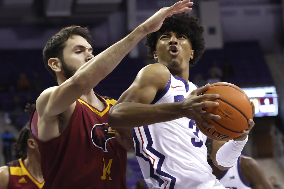
<path id="1" fill-rule="evenodd" d="M 177 3 L 175 3 L 170 7 L 165 7 L 160 9 L 153 16 L 151 16 L 145 22 L 143 22 L 141 26 L 144 28 L 147 34 L 151 32 L 156 32 L 162 26 L 165 18 L 171 17 L 172 14 L 191 11 L 191 8 L 189 8 L 188 6 L 192 5 L 193 2 L 190 2 L 190 0 L 178 1 Z"/>

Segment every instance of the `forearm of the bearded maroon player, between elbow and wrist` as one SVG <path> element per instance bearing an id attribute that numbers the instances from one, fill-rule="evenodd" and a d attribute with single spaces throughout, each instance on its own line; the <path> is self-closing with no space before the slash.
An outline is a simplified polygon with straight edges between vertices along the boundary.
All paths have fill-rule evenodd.
<path id="1" fill-rule="evenodd" d="M 110 46 L 78 69 L 75 75 L 86 88 L 95 87 L 147 35 L 143 26 L 138 26 L 129 35 Z M 74 76 L 75 76 L 74 75 Z"/>

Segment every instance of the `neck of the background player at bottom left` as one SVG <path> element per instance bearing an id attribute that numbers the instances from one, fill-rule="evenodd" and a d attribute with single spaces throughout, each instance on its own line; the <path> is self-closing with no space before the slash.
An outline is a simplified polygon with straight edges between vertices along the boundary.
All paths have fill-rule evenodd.
<path id="1" fill-rule="evenodd" d="M 23 161 L 23 164 L 39 183 L 43 182 L 40 159 L 36 157 L 35 153 L 28 152 L 27 158 Z"/>

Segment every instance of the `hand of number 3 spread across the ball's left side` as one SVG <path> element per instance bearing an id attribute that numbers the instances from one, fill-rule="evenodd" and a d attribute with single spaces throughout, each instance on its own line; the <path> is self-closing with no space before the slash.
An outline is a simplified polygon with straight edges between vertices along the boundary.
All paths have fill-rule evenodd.
<path id="1" fill-rule="evenodd" d="M 214 115 L 212 113 L 208 113 L 204 111 L 203 107 L 217 107 L 219 106 L 218 102 L 205 101 L 203 100 L 211 99 L 214 100 L 219 98 L 219 94 L 202 94 L 206 90 L 208 90 L 210 84 L 206 84 L 199 89 L 193 90 L 185 100 L 182 101 L 182 106 L 185 109 L 185 117 L 195 120 L 202 125 L 210 128 L 214 128 L 212 124 L 207 123 L 202 117 L 211 118 L 211 119 L 221 119 L 220 115 Z M 202 95 L 201 95 L 202 94 Z"/>

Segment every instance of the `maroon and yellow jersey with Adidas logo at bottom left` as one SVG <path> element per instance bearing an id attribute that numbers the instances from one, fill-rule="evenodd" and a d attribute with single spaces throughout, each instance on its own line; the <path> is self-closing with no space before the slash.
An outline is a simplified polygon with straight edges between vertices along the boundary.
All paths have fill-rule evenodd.
<path id="1" fill-rule="evenodd" d="M 38 189 L 43 187 L 43 183 L 39 183 L 30 175 L 30 172 L 25 168 L 21 159 L 14 160 L 8 163 L 9 167 L 9 189 Z"/>

